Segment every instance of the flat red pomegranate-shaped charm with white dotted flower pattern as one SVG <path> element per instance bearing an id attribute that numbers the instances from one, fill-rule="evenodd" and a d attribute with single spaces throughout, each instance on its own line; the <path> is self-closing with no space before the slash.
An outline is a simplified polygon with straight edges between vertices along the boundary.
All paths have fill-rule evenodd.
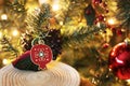
<path id="1" fill-rule="evenodd" d="M 46 64 L 52 60 L 52 49 L 48 45 L 36 44 L 30 51 L 30 57 L 40 69 L 46 69 Z"/>

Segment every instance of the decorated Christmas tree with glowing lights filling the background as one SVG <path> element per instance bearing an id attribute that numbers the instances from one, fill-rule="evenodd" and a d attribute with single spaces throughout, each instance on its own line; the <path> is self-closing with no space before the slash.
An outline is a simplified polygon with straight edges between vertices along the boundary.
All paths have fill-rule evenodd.
<path id="1" fill-rule="evenodd" d="M 81 86 L 130 85 L 130 0 L 1 0 L 0 16 L 0 67 L 42 39 Z"/>

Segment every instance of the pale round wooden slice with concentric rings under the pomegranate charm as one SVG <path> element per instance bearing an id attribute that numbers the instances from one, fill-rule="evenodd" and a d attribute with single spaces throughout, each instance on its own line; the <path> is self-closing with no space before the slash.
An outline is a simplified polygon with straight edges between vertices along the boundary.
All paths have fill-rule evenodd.
<path id="1" fill-rule="evenodd" d="M 52 61 L 43 71 L 22 71 L 12 64 L 0 69 L 0 86 L 79 86 L 78 72 L 62 62 Z"/>

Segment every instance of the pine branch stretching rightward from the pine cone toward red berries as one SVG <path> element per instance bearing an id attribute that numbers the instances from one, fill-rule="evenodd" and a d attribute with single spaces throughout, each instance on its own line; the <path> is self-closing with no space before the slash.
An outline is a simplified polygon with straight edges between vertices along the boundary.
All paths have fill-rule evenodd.
<path id="1" fill-rule="evenodd" d="M 101 25 L 101 27 L 82 27 L 80 29 L 77 28 L 73 33 L 70 33 L 70 30 L 66 30 L 63 34 L 63 43 L 67 46 L 72 46 L 76 43 L 82 43 L 82 41 L 87 41 L 88 37 L 92 37 L 93 33 L 105 30 L 105 25 Z"/>

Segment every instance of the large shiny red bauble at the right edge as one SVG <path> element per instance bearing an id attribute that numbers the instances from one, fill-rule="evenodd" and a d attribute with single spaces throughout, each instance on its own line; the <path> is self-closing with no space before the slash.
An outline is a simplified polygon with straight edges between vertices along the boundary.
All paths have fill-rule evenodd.
<path id="1" fill-rule="evenodd" d="M 109 69 L 121 78 L 130 78 L 130 45 L 126 42 L 119 43 L 109 54 Z"/>

